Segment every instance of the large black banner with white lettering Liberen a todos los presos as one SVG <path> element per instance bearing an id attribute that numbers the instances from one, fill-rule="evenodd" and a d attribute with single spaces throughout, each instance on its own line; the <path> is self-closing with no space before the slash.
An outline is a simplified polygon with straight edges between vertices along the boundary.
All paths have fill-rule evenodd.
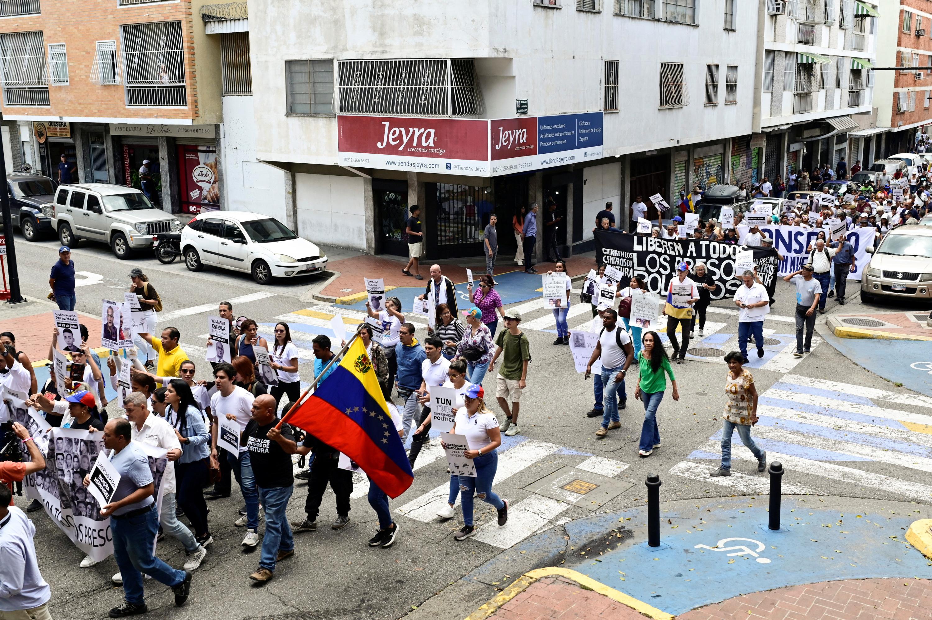
<path id="1" fill-rule="evenodd" d="M 774 299 L 777 258 L 773 248 L 750 248 L 708 239 L 659 239 L 596 230 L 596 260 L 618 267 L 625 277 L 639 275 L 647 281 L 651 292 L 661 295 L 663 302 L 670 281 L 676 277 L 677 265 L 687 263 L 690 270 L 696 263 L 705 263 L 706 271 L 719 285 L 711 291 L 712 299 L 731 299 L 741 286 L 734 273 L 734 259 L 742 249 L 754 250 L 754 264 L 761 284 Z M 622 281 L 622 286 L 626 282 Z"/>

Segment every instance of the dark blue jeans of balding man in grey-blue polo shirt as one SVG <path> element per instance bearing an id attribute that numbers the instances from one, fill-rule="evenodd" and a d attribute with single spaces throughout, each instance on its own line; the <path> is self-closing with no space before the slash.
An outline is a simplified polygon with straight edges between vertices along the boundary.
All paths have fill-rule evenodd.
<path id="1" fill-rule="evenodd" d="M 127 519 L 110 518 L 110 532 L 114 537 L 114 559 L 123 576 L 123 593 L 134 605 L 143 604 L 143 574 L 166 586 L 177 586 L 185 581 L 185 572 L 176 571 L 153 555 L 158 533 L 158 514 L 152 509 Z"/>

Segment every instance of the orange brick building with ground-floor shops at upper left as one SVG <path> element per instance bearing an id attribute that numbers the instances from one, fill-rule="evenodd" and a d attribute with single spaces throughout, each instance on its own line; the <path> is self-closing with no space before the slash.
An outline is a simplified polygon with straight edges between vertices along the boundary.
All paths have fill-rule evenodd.
<path id="1" fill-rule="evenodd" d="M 10 168 L 141 187 L 162 209 L 220 204 L 220 45 L 198 0 L 0 2 Z"/>

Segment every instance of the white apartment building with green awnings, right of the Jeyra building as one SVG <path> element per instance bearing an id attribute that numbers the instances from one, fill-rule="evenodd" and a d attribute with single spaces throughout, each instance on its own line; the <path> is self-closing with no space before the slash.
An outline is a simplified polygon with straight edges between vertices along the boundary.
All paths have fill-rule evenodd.
<path id="1" fill-rule="evenodd" d="M 765 172 L 784 178 L 860 156 L 873 106 L 877 27 L 867 0 L 766 0 L 755 128 L 766 134 Z"/>

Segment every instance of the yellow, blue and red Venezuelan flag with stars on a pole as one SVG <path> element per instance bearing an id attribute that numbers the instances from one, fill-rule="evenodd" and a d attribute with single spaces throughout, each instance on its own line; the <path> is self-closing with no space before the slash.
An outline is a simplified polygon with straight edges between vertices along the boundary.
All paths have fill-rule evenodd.
<path id="1" fill-rule="evenodd" d="M 283 422 L 349 456 L 391 498 L 414 480 L 376 371 L 359 338 L 327 380 Z"/>

